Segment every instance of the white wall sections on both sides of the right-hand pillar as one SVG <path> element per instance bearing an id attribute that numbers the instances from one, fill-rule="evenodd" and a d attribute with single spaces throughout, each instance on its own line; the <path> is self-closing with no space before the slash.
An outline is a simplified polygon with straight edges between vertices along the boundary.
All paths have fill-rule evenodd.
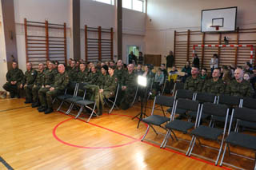
<path id="1" fill-rule="evenodd" d="M 101 2 L 81 0 L 80 3 L 80 27 L 81 27 L 81 57 L 85 58 L 84 26 L 114 29 L 114 55 L 117 55 L 117 23 L 116 6 Z M 146 33 L 146 14 L 123 8 L 122 12 L 122 57 L 126 62 L 126 45 L 145 46 L 144 35 Z"/>

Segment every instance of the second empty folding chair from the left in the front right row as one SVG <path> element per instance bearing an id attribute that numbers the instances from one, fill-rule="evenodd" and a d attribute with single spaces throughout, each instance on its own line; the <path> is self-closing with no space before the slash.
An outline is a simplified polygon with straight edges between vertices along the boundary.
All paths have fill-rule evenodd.
<path id="1" fill-rule="evenodd" d="M 191 112 L 196 112 L 197 113 L 196 121 L 193 123 L 190 121 L 182 121 L 182 120 L 174 119 L 176 109 L 185 109 Z M 174 138 L 178 141 L 178 137 L 175 135 L 174 131 L 183 132 L 185 134 L 188 132 L 188 130 L 190 130 L 190 128 L 196 128 L 198 126 L 199 113 L 200 113 L 200 105 L 198 101 L 191 101 L 188 99 L 178 99 L 178 101 L 175 104 L 174 110 L 171 114 L 172 115 L 171 121 L 170 123 L 166 124 L 166 128 L 168 130 L 167 130 L 165 139 L 162 141 L 161 148 L 166 147 L 169 137 L 171 137 L 171 133 L 174 135 Z M 173 137 L 171 138 L 173 139 Z M 178 148 L 174 148 L 174 149 L 177 149 L 178 151 L 182 151 Z"/>

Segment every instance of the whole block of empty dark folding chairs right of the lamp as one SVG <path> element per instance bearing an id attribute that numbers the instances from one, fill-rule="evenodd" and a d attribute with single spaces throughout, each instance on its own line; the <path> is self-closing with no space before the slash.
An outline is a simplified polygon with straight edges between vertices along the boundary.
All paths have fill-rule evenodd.
<path id="1" fill-rule="evenodd" d="M 252 98 L 230 97 L 226 95 L 217 97 L 208 93 L 193 93 L 184 89 L 179 89 L 174 97 L 157 96 L 154 99 L 151 116 L 142 120 L 148 125 L 142 140 L 145 140 L 150 127 L 154 129 L 154 132 L 159 134 L 153 126 L 158 126 L 166 130 L 166 136 L 162 140 L 160 148 L 165 148 L 169 139 L 173 141 L 185 140 L 178 139 L 176 131 L 189 134 L 191 140 L 186 140 L 189 142 L 186 151 L 169 147 L 186 152 L 186 156 L 196 155 L 206 160 L 211 160 L 209 157 L 193 152 L 194 148 L 196 148 L 195 143 L 198 141 L 198 144 L 202 147 L 218 150 L 218 156 L 213 160 L 215 165 L 218 164 L 222 156 L 220 165 L 227 164 L 231 167 L 238 168 L 233 164 L 224 162 L 224 157 L 228 156 L 226 154 L 226 148 L 228 148 L 229 155 L 234 154 L 237 156 L 239 155 L 238 153 L 230 151 L 230 144 L 249 148 L 254 150 L 254 152 L 256 151 L 256 136 L 254 132 L 247 134 L 238 130 L 241 127 L 256 128 L 255 104 L 256 101 Z M 170 109 L 167 109 L 167 112 L 170 113 L 170 117 L 154 114 L 155 105 L 169 107 Z M 188 117 L 188 121 L 177 119 L 176 114 Z M 202 123 L 203 120 L 206 121 Z M 222 123 L 214 125 L 216 121 L 221 121 Z M 207 142 L 206 144 L 202 144 L 201 139 L 218 141 L 219 147 L 210 147 Z M 250 157 L 246 158 L 252 159 Z M 256 169 L 255 160 L 254 164 L 254 169 Z"/>

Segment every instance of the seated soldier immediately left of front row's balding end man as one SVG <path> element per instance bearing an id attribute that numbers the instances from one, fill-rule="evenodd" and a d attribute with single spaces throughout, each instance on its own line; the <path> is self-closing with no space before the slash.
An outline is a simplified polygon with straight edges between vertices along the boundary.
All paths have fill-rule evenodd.
<path id="1" fill-rule="evenodd" d="M 54 62 L 50 61 L 48 65 L 48 69 L 45 72 L 43 85 L 41 89 L 39 89 L 38 91 L 38 97 L 41 103 L 41 106 L 38 108 L 38 110 L 42 108 L 46 108 L 46 102 L 43 101 L 44 100 L 43 97 L 50 90 L 50 87 L 54 86 L 55 75 L 57 75 L 57 73 L 55 72 L 55 69 L 54 69 Z M 42 105 L 42 102 L 43 102 L 43 105 Z"/>

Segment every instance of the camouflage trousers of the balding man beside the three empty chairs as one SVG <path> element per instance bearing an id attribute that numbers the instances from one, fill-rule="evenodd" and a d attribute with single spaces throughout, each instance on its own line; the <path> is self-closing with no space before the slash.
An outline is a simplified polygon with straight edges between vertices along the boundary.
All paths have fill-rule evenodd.
<path id="1" fill-rule="evenodd" d="M 53 91 L 50 91 L 50 88 L 39 89 L 38 96 L 42 107 L 52 109 L 54 97 L 61 93 L 63 93 L 63 91 L 59 89 L 54 89 Z"/>

